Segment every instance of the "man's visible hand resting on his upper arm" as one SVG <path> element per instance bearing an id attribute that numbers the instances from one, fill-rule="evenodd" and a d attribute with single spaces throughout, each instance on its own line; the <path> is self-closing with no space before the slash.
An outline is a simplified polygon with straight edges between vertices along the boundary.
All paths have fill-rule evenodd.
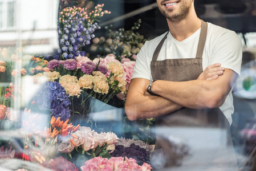
<path id="1" fill-rule="evenodd" d="M 204 72 L 198 76 L 197 80 L 216 80 L 219 76 L 223 75 L 224 71 L 225 68 L 221 67 L 220 63 L 215 63 L 205 68 Z"/>

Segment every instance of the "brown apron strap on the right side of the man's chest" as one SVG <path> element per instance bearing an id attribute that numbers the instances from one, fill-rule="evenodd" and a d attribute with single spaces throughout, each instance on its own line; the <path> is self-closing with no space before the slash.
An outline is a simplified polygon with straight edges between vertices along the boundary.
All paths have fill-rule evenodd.
<path id="1" fill-rule="evenodd" d="M 199 42 L 198 42 L 198 46 L 197 46 L 196 58 L 202 58 L 202 53 L 204 52 L 204 47 L 205 47 L 207 28 L 208 28 L 208 24 L 206 22 L 202 21 L 200 37 L 199 37 Z"/>

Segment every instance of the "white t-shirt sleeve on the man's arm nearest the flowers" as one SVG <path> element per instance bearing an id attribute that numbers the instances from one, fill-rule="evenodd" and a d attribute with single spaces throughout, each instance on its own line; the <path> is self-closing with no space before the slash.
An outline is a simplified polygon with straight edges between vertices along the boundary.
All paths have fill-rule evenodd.
<path id="1" fill-rule="evenodd" d="M 139 54 L 137 54 L 137 59 L 135 62 L 135 67 L 132 75 L 133 78 L 144 78 L 151 80 L 151 68 L 150 62 L 147 58 L 147 48 L 148 42 L 146 42 L 143 47 L 141 47 Z"/>

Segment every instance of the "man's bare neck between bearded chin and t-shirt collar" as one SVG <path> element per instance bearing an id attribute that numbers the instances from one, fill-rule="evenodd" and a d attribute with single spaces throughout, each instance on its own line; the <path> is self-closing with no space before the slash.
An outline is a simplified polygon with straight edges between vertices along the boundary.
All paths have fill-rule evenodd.
<path id="1" fill-rule="evenodd" d="M 188 16 L 180 22 L 172 22 L 167 19 L 170 34 L 173 38 L 181 42 L 188 38 L 201 27 L 201 19 L 196 15 L 196 11 L 190 9 Z"/>

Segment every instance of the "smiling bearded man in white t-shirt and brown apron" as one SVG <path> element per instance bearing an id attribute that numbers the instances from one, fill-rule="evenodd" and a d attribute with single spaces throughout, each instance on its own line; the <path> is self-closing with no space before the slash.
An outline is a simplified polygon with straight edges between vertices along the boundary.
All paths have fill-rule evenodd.
<path id="1" fill-rule="evenodd" d="M 233 31 L 201 21 L 193 0 L 157 0 L 157 5 L 169 31 L 146 42 L 137 55 L 125 103 L 127 117 L 156 117 L 156 149 L 165 156 L 162 165 L 173 166 L 175 157 L 173 146 L 164 144 L 159 135 L 179 132 L 188 144 L 209 144 L 208 149 L 214 149 L 208 152 L 191 144 L 190 150 L 183 149 L 182 165 L 195 165 L 188 170 L 236 170 L 234 150 L 227 150 L 225 141 L 210 146 L 202 132 L 206 127 L 222 130 L 231 124 L 231 89 L 241 69 L 241 40 Z M 191 137 L 188 132 L 198 128 L 201 132 Z M 229 127 L 225 128 L 230 143 Z M 226 156 L 228 162 L 223 159 Z"/>

